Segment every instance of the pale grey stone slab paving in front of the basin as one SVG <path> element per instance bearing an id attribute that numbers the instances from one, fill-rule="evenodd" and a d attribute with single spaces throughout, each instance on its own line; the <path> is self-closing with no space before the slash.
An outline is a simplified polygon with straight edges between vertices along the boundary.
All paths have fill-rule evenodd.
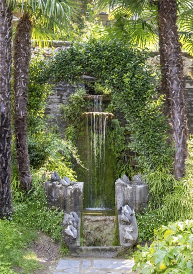
<path id="1" fill-rule="evenodd" d="M 134 260 L 68 258 L 60 259 L 53 274 L 136 274 Z"/>

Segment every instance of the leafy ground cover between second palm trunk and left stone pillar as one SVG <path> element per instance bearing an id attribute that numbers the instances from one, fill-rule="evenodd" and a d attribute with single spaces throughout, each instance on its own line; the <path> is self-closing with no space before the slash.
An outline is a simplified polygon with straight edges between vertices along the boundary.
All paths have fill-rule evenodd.
<path id="1" fill-rule="evenodd" d="M 14 222 L 33 230 L 42 230 L 54 240 L 61 240 L 64 213 L 59 208 L 48 208 L 44 189 L 36 187 L 24 202 L 14 205 Z"/>

